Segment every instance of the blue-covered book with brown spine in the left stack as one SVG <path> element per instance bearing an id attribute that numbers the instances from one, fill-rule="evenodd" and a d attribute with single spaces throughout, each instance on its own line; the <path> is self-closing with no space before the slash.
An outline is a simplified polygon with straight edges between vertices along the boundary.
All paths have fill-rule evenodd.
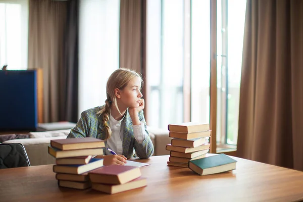
<path id="1" fill-rule="evenodd" d="M 103 159 L 91 159 L 84 165 L 54 165 L 54 173 L 82 174 L 103 166 Z"/>

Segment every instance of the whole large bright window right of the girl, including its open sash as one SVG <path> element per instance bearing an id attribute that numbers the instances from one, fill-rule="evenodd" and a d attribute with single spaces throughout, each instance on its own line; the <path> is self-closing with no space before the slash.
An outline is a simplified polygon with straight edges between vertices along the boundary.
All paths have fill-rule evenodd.
<path id="1" fill-rule="evenodd" d="M 211 3 L 217 5 L 215 13 L 211 13 Z M 148 125 L 167 128 L 170 123 L 189 120 L 209 123 L 210 102 L 215 100 L 218 149 L 223 145 L 235 148 L 245 9 L 246 1 L 237 0 L 147 0 Z M 211 19 L 211 14 L 217 19 Z M 212 24 L 217 24 L 215 34 Z M 214 55 L 212 35 L 217 35 Z M 217 98 L 212 99 L 213 59 L 217 60 Z"/>

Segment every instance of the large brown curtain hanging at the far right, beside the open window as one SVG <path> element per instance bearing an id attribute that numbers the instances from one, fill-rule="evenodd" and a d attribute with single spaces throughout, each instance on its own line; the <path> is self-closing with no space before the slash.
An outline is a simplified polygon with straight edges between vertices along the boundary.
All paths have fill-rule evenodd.
<path id="1" fill-rule="evenodd" d="M 303 170 L 303 1 L 247 0 L 237 156 Z"/>

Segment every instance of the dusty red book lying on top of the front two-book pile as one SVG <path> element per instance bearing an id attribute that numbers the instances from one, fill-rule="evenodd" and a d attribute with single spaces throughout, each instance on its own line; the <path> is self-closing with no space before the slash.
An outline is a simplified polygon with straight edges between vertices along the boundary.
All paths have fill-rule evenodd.
<path id="1" fill-rule="evenodd" d="M 124 184 L 141 176 L 139 167 L 135 166 L 105 166 L 89 172 L 93 183 Z"/>

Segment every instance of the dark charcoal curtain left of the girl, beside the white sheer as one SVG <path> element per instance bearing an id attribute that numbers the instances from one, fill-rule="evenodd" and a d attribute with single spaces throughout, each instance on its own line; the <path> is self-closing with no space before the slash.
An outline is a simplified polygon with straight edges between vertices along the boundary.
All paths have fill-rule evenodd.
<path id="1" fill-rule="evenodd" d="M 78 121 L 78 22 L 79 1 L 67 4 L 67 23 L 64 33 L 64 68 L 60 69 L 59 113 L 61 121 Z"/>

